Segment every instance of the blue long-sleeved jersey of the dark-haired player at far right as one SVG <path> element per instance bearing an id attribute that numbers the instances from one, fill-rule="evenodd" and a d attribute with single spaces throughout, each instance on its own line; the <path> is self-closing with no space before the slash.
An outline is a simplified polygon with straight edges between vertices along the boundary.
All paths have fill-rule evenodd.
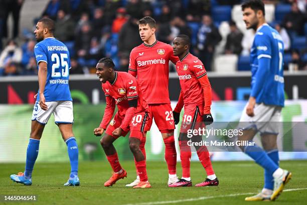
<path id="1" fill-rule="evenodd" d="M 284 106 L 283 42 L 279 33 L 267 24 L 257 29 L 251 48 L 251 96 L 258 104 Z M 268 65 L 259 66 L 261 58 Z M 262 61 L 263 62 L 263 61 Z M 258 72 L 265 72 L 258 77 Z M 257 75 L 258 74 L 258 75 Z"/>

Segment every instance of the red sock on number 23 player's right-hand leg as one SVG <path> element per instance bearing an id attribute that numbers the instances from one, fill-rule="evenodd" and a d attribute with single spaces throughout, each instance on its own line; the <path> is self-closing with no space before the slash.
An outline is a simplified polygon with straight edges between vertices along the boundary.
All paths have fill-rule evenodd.
<path id="1" fill-rule="evenodd" d="M 169 174 L 176 174 L 177 153 L 174 135 L 163 139 L 165 144 L 165 160 L 168 164 Z"/>

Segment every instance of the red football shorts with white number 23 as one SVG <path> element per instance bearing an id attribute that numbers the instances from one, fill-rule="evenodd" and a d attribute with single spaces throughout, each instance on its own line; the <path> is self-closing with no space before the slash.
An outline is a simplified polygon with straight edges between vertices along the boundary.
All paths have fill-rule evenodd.
<path id="1" fill-rule="evenodd" d="M 148 114 L 149 120 L 145 131 L 150 130 L 152 119 L 155 119 L 155 123 L 160 131 L 175 129 L 171 104 L 150 104 L 148 105 Z"/>

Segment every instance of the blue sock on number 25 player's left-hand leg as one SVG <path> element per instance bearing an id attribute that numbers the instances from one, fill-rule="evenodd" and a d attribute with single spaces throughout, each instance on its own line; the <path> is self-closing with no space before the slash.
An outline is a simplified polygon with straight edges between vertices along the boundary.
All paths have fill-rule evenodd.
<path id="1" fill-rule="evenodd" d="M 27 149 L 26 169 L 24 173 L 26 178 L 32 177 L 32 171 L 38 156 L 39 147 L 40 147 L 40 140 L 35 140 L 30 138 Z"/>

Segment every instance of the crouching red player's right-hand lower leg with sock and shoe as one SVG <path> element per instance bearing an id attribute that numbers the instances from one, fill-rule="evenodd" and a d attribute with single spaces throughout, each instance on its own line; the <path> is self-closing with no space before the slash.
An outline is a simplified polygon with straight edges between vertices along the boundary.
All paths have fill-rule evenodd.
<path id="1" fill-rule="evenodd" d="M 140 142 L 140 139 L 136 137 L 129 138 L 129 148 L 134 156 L 137 175 L 140 179 L 140 182 L 136 186 L 133 186 L 133 188 L 150 188 L 151 185 L 148 182 L 146 171 L 146 160 L 139 148 Z"/>

